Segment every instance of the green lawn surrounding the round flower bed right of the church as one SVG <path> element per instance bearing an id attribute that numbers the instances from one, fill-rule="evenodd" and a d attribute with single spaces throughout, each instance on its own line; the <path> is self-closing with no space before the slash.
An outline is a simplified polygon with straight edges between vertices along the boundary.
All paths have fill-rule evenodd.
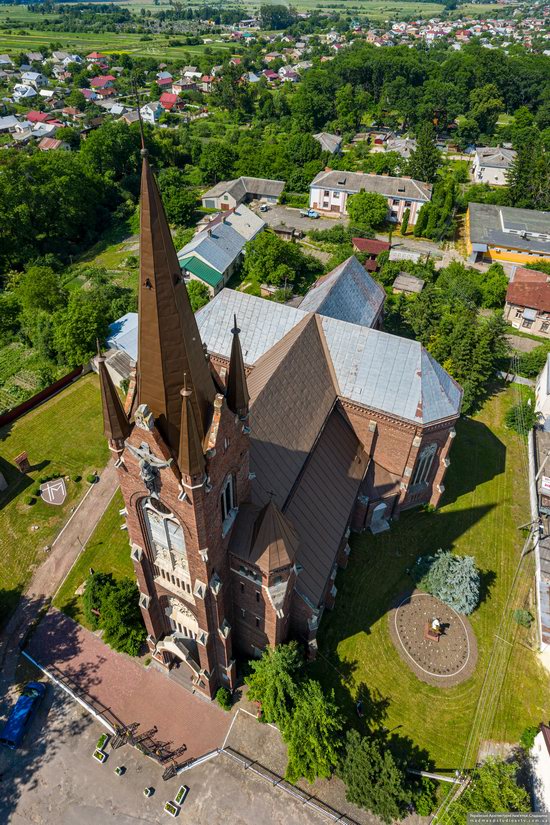
<path id="1" fill-rule="evenodd" d="M 387 714 L 383 723 L 439 770 L 460 767 L 463 760 L 473 764 L 480 740 L 517 741 L 528 724 L 538 725 L 550 712 L 548 675 L 529 648 L 529 631 L 513 622 L 499 627 L 503 614 L 510 620 L 514 608 L 529 604 L 533 584 L 527 556 L 505 610 L 524 541 L 518 526 L 530 521 L 525 446 L 502 423 L 513 400 L 512 387 L 499 390 L 479 415 L 459 421 L 444 504 L 437 512 L 412 511 L 387 533 L 352 537 L 349 566 L 338 576 L 336 606 L 323 618 L 321 656 L 312 667 L 335 688 L 355 723 L 353 701 L 358 692 L 368 696 L 367 686 L 373 707 Z M 388 607 L 411 586 L 407 569 L 418 555 L 439 547 L 475 556 L 484 573 L 485 598 L 471 616 L 478 666 L 472 678 L 450 689 L 420 682 L 399 658 L 388 630 Z M 497 656 L 487 701 L 472 730 L 493 642 Z"/>

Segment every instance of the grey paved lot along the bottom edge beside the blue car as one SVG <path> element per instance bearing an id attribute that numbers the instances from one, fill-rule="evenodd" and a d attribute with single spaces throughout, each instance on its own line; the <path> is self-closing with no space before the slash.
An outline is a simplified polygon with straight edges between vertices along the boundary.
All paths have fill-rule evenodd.
<path id="1" fill-rule="evenodd" d="M 173 709 L 177 715 L 177 708 Z M 0 752 L 0 822 L 6 825 L 149 825 L 166 823 L 164 803 L 185 783 L 178 820 L 194 825 L 323 825 L 327 820 L 221 754 L 163 782 L 162 769 L 133 748 L 92 752 L 104 728 L 50 686 L 23 747 Z M 107 747 L 109 751 L 109 747 Z M 117 765 L 126 773 L 118 777 Z M 155 793 L 146 799 L 145 787 Z"/>

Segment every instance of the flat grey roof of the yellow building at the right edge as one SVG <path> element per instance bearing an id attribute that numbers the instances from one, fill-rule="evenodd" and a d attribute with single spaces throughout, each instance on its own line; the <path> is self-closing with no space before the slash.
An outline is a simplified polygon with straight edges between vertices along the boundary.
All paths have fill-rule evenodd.
<path id="1" fill-rule="evenodd" d="M 471 203 L 469 215 L 472 244 L 525 249 L 550 255 L 550 212 Z"/>

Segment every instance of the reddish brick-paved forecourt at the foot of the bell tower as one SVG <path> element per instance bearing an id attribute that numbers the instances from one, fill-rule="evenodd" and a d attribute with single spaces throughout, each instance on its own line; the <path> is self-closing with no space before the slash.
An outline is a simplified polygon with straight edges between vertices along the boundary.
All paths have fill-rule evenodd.
<path id="1" fill-rule="evenodd" d="M 231 715 L 194 696 L 154 667 L 115 653 L 101 639 L 55 609 L 33 634 L 28 652 L 43 667 L 52 665 L 124 724 L 139 722 L 139 733 L 156 725 L 157 741 L 185 744 L 179 761 L 221 747 Z"/>

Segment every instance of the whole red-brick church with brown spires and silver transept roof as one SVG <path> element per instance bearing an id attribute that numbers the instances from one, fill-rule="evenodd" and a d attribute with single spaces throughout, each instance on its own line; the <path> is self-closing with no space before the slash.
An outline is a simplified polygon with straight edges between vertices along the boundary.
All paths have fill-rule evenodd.
<path id="1" fill-rule="evenodd" d="M 195 316 L 143 150 L 138 361 L 123 405 L 99 359 L 147 641 L 212 697 L 235 655 L 315 654 L 350 530 L 437 505 L 461 390 L 379 325 L 352 258 L 298 307 L 222 290 Z"/>

